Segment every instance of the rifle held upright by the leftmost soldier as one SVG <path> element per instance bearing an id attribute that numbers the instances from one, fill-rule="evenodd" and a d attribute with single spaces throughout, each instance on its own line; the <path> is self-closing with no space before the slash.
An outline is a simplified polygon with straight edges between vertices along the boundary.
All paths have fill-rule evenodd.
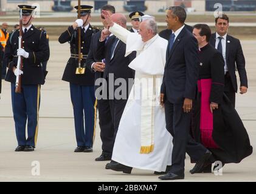
<path id="1" fill-rule="evenodd" d="M 22 9 L 20 9 L 20 15 L 19 15 L 19 49 L 22 48 Z M 23 69 L 23 58 L 22 56 L 18 56 L 18 64 L 17 69 L 22 70 Z M 16 83 L 15 83 L 15 92 L 21 93 L 21 75 L 16 76 Z"/>

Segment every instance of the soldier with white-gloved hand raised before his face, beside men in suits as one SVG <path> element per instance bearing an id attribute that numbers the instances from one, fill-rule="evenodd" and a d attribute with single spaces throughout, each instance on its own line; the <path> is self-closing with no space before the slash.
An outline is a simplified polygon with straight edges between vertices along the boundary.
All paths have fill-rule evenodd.
<path id="1" fill-rule="evenodd" d="M 71 57 L 62 80 L 69 82 L 74 110 L 77 148 L 74 152 L 92 152 L 95 136 L 97 100 L 94 94 L 94 73 L 85 69 L 92 35 L 99 30 L 90 25 L 92 6 L 75 6 L 78 19 L 60 35 L 58 41 L 69 42 Z M 79 36 L 80 35 L 80 36 Z"/>

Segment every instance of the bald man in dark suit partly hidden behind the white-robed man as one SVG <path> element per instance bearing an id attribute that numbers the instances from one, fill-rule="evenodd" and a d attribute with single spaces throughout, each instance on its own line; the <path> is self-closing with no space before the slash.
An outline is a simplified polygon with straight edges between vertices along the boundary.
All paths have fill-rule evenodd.
<path id="1" fill-rule="evenodd" d="M 126 18 L 122 14 L 113 14 L 111 16 L 112 20 L 122 27 L 126 28 Z M 128 88 L 128 80 L 134 78 L 134 70 L 130 69 L 128 65 L 135 58 L 134 53 L 125 57 L 126 45 L 122 41 L 120 41 L 116 36 L 109 37 L 108 29 L 102 30 L 102 34 L 100 39 L 98 39 L 97 43 L 97 59 L 105 59 L 105 69 L 103 70 L 103 80 L 106 79 L 107 82 L 107 100 L 109 102 L 110 112 L 112 123 L 114 124 L 114 129 L 112 130 L 110 135 L 112 135 L 112 144 L 111 144 L 111 154 L 112 149 L 114 147 L 114 140 L 116 138 L 117 129 L 119 127 L 119 122 L 125 109 L 125 105 L 128 99 L 128 95 L 130 92 L 130 88 Z M 108 38 L 109 37 L 109 38 Z M 107 40 L 108 38 L 108 40 Z M 125 91 L 122 89 L 120 91 L 120 96 L 116 96 L 116 89 L 120 87 L 120 85 L 116 85 L 117 79 L 123 78 L 126 81 L 126 89 Z M 122 79 L 122 80 L 123 80 Z M 114 85 L 115 82 L 115 85 Z M 132 86 L 132 85 L 130 85 Z M 104 87 L 103 87 L 104 89 Z M 125 92 L 125 93 L 123 93 Z M 97 96 L 97 92 L 95 93 Z M 105 98 L 105 95 L 102 96 Z M 120 99 L 117 97 L 121 97 Z"/>

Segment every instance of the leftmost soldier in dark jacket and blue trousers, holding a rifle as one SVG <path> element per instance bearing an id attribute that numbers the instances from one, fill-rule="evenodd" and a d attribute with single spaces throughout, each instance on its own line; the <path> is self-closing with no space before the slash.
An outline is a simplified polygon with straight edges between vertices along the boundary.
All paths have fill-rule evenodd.
<path id="1" fill-rule="evenodd" d="M 46 36 L 32 25 L 36 7 L 18 7 L 20 27 L 10 34 L 5 47 L 4 63 L 8 67 L 5 81 L 11 82 L 12 88 L 13 118 L 18 140 L 15 151 L 30 152 L 36 146 L 40 89 L 47 73 L 43 71 L 41 62 L 49 59 L 50 50 Z"/>

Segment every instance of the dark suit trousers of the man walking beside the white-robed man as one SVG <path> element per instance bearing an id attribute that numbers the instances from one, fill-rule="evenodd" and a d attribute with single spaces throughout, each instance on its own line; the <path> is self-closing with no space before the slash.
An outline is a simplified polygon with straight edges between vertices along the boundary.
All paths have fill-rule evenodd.
<path id="1" fill-rule="evenodd" d="M 182 106 L 165 101 L 166 129 L 173 136 L 170 172 L 179 176 L 184 175 L 186 152 L 193 161 L 198 161 L 207 150 L 190 136 L 191 112 L 184 113 Z"/>

